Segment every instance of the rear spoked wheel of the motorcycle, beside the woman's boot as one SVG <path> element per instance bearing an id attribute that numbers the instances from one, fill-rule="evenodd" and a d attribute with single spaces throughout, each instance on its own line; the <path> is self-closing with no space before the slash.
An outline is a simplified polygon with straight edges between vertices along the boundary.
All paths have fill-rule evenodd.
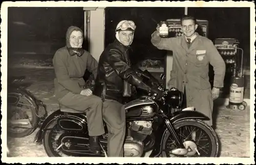
<path id="1" fill-rule="evenodd" d="M 105 142 L 105 143 L 104 143 Z M 44 148 L 49 157 L 101 157 L 89 151 L 89 134 L 63 130 L 57 121 L 52 121 L 46 128 L 43 138 Z M 101 142 L 106 150 L 106 141 Z"/>

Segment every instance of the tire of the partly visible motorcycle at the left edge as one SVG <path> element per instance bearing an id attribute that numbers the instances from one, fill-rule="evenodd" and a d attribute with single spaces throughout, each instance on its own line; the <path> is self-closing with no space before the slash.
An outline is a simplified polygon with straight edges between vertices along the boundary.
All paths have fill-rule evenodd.
<path id="1" fill-rule="evenodd" d="M 26 97 L 26 95 L 23 95 L 22 93 L 15 93 L 15 92 L 8 93 L 8 97 L 13 97 L 14 95 L 19 96 L 19 97 L 21 96 L 24 99 L 25 103 L 30 105 L 29 109 L 30 109 L 31 118 L 32 118 L 30 123 L 32 125 L 32 128 L 24 128 L 24 131 L 18 132 L 18 133 L 11 131 L 11 129 L 7 129 L 7 135 L 10 137 L 13 137 L 13 138 L 26 137 L 26 136 L 30 135 L 36 129 L 35 126 L 36 126 L 37 120 L 38 120 L 38 117 L 36 115 L 37 106 L 36 106 L 35 102 L 30 101 Z M 7 109 L 8 109 L 8 107 L 9 107 L 9 105 L 7 106 Z"/>

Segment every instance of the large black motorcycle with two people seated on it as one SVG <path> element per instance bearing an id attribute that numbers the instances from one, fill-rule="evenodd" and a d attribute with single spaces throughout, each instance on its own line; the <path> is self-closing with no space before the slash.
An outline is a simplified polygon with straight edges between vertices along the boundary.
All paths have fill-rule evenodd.
<path id="1" fill-rule="evenodd" d="M 164 75 L 161 75 L 163 79 Z M 215 131 L 203 120 L 209 118 L 193 107 L 182 109 L 182 92 L 162 91 L 163 97 L 144 95 L 127 102 L 124 157 L 217 157 L 219 142 Z M 176 111 L 173 111 L 176 109 Z M 179 109 L 179 111 L 177 111 Z M 62 107 L 42 123 L 35 136 L 49 157 L 106 156 L 108 130 L 100 138 L 101 155 L 89 151 L 87 117 L 82 112 Z"/>

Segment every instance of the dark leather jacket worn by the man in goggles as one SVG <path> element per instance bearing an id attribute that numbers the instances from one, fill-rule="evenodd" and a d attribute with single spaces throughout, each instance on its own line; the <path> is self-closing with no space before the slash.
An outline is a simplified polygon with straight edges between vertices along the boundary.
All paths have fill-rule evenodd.
<path id="1" fill-rule="evenodd" d="M 103 101 L 113 99 L 122 103 L 124 80 L 131 84 L 132 88 L 151 91 L 150 85 L 143 81 L 143 72 L 131 67 L 129 49 L 130 47 L 115 40 L 101 53 L 93 94 L 101 97 Z"/>

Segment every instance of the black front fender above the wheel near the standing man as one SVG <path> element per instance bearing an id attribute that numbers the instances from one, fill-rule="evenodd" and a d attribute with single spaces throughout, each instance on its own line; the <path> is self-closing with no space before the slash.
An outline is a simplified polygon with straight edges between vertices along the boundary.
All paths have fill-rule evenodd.
<path id="1" fill-rule="evenodd" d="M 210 120 L 204 114 L 193 111 L 193 110 L 186 110 L 186 111 L 177 111 L 173 114 L 173 117 L 170 118 L 170 123 L 177 122 L 183 119 L 200 119 L 200 120 Z"/>

